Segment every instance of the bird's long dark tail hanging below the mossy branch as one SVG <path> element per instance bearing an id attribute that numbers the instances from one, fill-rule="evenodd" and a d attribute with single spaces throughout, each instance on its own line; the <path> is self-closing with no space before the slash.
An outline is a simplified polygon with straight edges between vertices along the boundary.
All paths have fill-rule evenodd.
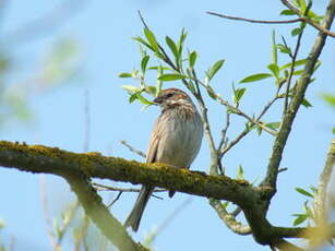
<path id="1" fill-rule="evenodd" d="M 141 188 L 135 205 L 124 223 L 125 228 L 131 227 L 134 231 L 137 231 L 145 205 L 153 191 L 154 188 L 152 187 L 143 186 Z"/>

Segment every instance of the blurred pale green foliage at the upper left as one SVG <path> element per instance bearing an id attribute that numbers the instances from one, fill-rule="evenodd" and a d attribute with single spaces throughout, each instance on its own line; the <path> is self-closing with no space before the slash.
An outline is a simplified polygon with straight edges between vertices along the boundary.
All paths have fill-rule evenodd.
<path id="1" fill-rule="evenodd" d="M 33 113 L 29 109 L 31 98 L 37 94 L 49 92 L 55 87 L 69 83 L 74 79 L 80 68 L 79 43 L 72 38 L 62 38 L 53 43 L 50 48 L 43 53 L 43 60 L 37 70 L 28 77 L 20 80 L 17 63 L 13 64 L 14 56 L 10 51 L 0 51 L 0 127 L 10 125 L 12 122 L 27 122 Z M 32 61 L 32 64 L 36 62 Z M 21 65 L 19 65 L 20 68 Z M 10 83 L 9 73 L 15 71 L 15 83 Z"/>

